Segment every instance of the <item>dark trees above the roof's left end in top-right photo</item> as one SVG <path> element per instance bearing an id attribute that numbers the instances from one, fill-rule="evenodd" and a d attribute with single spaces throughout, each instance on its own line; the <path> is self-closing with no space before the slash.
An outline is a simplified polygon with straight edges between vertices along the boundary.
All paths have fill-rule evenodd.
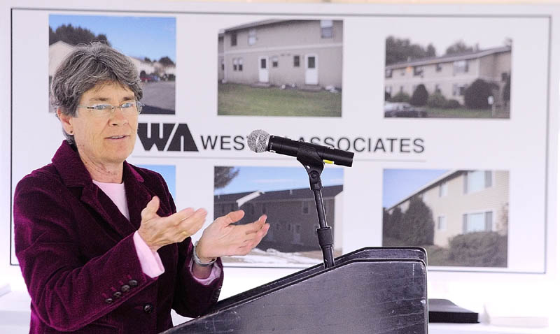
<path id="1" fill-rule="evenodd" d="M 385 40 L 385 65 L 426 57 L 435 57 L 432 44 L 424 48 L 422 45 L 410 43 L 408 38 L 388 36 Z"/>

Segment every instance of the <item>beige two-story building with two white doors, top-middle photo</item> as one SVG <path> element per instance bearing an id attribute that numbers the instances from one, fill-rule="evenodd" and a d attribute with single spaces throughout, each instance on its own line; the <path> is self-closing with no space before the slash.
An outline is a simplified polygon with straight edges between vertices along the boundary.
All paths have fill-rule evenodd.
<path id="1" fill-rule="evenodd" d="M 218 80 L 342 89 L 342 21 L 265 20 L 224 29 Z"/>

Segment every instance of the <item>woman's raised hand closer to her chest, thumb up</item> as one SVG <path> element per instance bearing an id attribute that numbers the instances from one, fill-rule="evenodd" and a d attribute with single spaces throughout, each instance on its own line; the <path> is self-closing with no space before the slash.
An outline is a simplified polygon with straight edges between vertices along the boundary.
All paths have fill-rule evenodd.
<path id="1" fill-rule="evenodd" d="M 156 213 L 158 208 L 160 198 L 153 196 L 141 212 L 142 221 L 138 229 L 138 234 L 153 252 L 165 245 L 182 242 L 197 233 L 204 225 L 208 213 L 202 208 L 196 211 L 186 208 L 169 217 L 160 217 Z"/>

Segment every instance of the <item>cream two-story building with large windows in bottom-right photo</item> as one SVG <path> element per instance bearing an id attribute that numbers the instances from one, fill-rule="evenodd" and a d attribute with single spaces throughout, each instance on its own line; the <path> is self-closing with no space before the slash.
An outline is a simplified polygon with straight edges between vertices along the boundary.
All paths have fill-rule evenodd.
<path id="1" fill-rule="evenodd" d="M 507 234 L 510 176 L 505 170 L 451 170 L 388 208 L 405 212 L 420 196 L 432 210 L 434 245 L 447 247 L 449 238 L 475 231 Z M 386 224 L 386 222 L 384 222 Z"/>

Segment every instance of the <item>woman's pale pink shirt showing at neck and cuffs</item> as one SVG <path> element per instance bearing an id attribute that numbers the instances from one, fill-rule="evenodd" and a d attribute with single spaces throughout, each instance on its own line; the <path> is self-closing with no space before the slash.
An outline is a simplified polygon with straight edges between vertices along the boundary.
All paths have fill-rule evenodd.
<path id="1" fill-rule="evenodd" d="M 111 201 L 117 205 L 118 210 L 125 216 L 127 219 L 130 220 L 130 215 L 128 212 L 128 205 L 127 205 L 127 197 L 125 192 L 125 184 L 124 183 L 104 183 L 104 182 L 97 182 L 93 180 L 94 184 L 97 184 L 97 187 L 102 189 L 102 191 L 111 198 Z M 150 247 L 146 244 L 146 242 L 141 238 L 138 234 L 138 231 L 134 232 L 134 236 L 132 237 L 134 240 L 134 247 L 136 248 L 136 253 L 138 259 L 140 261 L 140 266 L 144 274 L 148 275 L 151 278 L 158 277 L 165 272 L 165 268 L 163 267 L 162 260 L 160 258 L 160 254 L 158 252 L 153 252 Z M 190 273 L 193 273 L 193 261 L 190 262 Z M 205 279 L 200 279 L 193 274 L 193 277 L 200 282 L 200 284 L 209 285 L 214 279 L 220 277 L 221 275 L 221 268 L 216 266 L 212 266 L 212 271 L 209 277 Z"/>

